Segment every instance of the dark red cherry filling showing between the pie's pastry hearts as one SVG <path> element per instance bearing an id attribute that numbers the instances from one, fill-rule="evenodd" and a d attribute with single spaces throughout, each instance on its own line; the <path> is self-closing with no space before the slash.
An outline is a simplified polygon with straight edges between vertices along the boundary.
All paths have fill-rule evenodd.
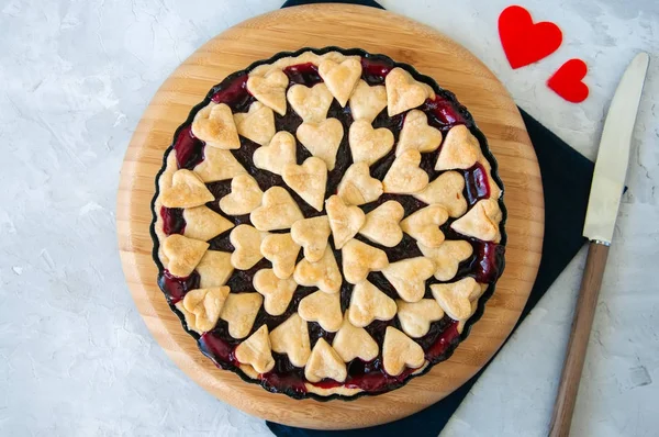
<path id="1" fill-rule="evenodd" d="M 362 75 L 361 78 L 369 85 L 383 85 L 386 76 L 394 67 L 394 64 L 384 57 L 380 56 L 368 56 L 361 59 Z M 317 67 L 313 64 L 299 64 L 287 67 L 283 69 L 284 74 L 289 78 L 289 87 L 294 83 L 304 85 L 308 87 L 314 86 L 322 82 L 322 78 L 319 75 Z M 232 111 L 246 112 L 249 105 L 255 99 L 249 94 L 246 88 L 247 75 L 239 75 L 237 77 L 228 78 L 211 91 L 211 100 L 216 103 L 226 103 Z M 440 90 L 435 99 L 426 100 L 426 102 L 420 108 L 428 116 L 428 123 L 439 128 L 444 134 L 456 124 L 467 124 L 469 127 L 473 127 L 473 123 L 467 114 L 465 108 L 460 107 L 455 97 L 445 90 Z M 336 167 L 333 171 L 328 172 L 327 176 L 327 191 L 326 197 L 330 197 L 336 192 L 336 188 L 340 182 L 342 176 L 346 169 L 353 164 L 353 158 L 348 145 L 348 128 L 353 123 L 353 116 L 349 108 L 340 108 L 338 102 L 333 101 L 330 107 L 328 117 L 335 117 L 339 120 L 344 126 L 344 137 L 342 139 Z M 292 110 L 288 109 L 284 115 L 275 114 L 275 123 L 277 131 L 288 131 L 295 133 L 298 126 L 302 123 L 300 116 Z M 396 115 L 389 117 L 387 111 L 382 111 L 373 121 L 373 127 L 387 127 L 398 142 L 400 132 L 404 123 L 404 115 Z M 480 138 L 480 137 L 479 137 Z M 199 163 L 203 160 L 203 142 L 194 137 L 191 132 L 190 125 L 181 128 L 176 138 L 174 148 L 176 149 L 177 164 L 179 168 L 192 169 Z M 257 180 L 261 190 L 266 191 L 272 186 L 280 186 L 287 189 L 293 199 L 300 205 L 305 217 L 316 216 L 324 214 L 324 212 L 317 212 L 309 204 L 306 204 L 293 190 L 283 183 L 280 176 L 271 173 L 266 170 L 259 170 L 254 167 L 252 163 L 252 156 L 254 150 L 259 145 L 241 137 L 241 148 L 231 150 L 235 158 L 249 171 L 249 173 Z M 303 163 L 311 154 L 304 148 L 299 142 L 297 144 L 297 158 L 298 163 Z M 391 150 L 387 156 L 382 157 L 376 164 L 371 166 L 371 176 L 378 179 L 382 179 L 391 163 L 395 158 L 394 150 Z M 442 173 L 442 171 L 434 170 L 436 154 L 424 154 L 422 155 L 421 167 L 426 170 L 431 179 L 435 179 Z M 485 169 L 477 164 L 472 168 L 461 171 L 465 177 L 465 191 L 463 195 L 471 208 L 480 199 L 485 199 L 490 194 L 490 186 Z M 221 199 L 231 192 L 231 181 L 219 181 L 206 184 L 209 190 L 215 195 L 215 199 Z M 361 208 L 366 213 L 372 211 L 378 205 L 384 203 L 388 200 L 395 200 L 401 203 L 405 210 L 405 216 L 412 214 L 426 204 L 420 200 L 416 200 L 412 195 L 399 195 L 399 194 L 383 194 L 378 201 L 362 205 Z M 226 216 L 223 214 L 217 205 L 217 201 L 209 202 L 206 206 L 213 211 L 224 215 L 231 220 L 234 224 L 250 224 L 249 215 L 243 216 Z M 164 232 L 167 235 L 182 233 L 186 227 L 186 222 L 182 216 L 182 210 L 180 209 L 160 209 L 160 216 L 164 223 Z M 447 239 L 465 239 L 465 236 L 456 234 L 450 229 L 450 220 L 448 223 L 442 226 Z M 211 239 L 211 250 L 233 250 L 233 246 L 228 240 L 230 232 L 223 233 L 217 237 Z M 357 238 L 366 240 L 360 235 Z M 473 255 L 460 264 L 456 278 L 451 281 L 465 278 L 473 277 L 477 281 L 483 283 L 493 283 L 501 271 L 503 270 L 503 254 L 504 247 L 494 243 L 484 243 L 473 238 L 468 238 L 473 246 Z M 391 262 L 422 256 L 421 250 L 416 246 L 414 238 L 409 235 L 404 235 L 403 240 L 393 248 L 387 248 L 368 242 L 370 245 L 379 247 L 387 251 L 389 260 Z M 333 247 L 333 243 L 331 242 Z M 335 250 L 334 254 L 337 262 L 340 266 L 342 254 L 340 250 Z M 302 251 L 300 253 L 299 259 L 302 258 Z M 252 281 L 256 271 L 263 268 L 269 268 L 271 264 L 261 259 L 255 267 L 249 270 L 239 271 L 236 270 L 227 285 L 231 287 L 232 292 L 253 292 Z M 382 290 L 392 299 L 398 299 L 395 289 L 387 281 L 384 276 L 380 272 L 371 272 L 368 280 Z M 160 289 L 165 292 L 168 301 L 171 304 L 180 301 L 185 294 L 192 289 L 199 288 L 199 273 L 193 272 L 188 278 L 176 278 L 171 276 L 167 270 L 164 270 L 159 277 Z M 432 298 L 431 283 L 436 283 L 434 278 L 427 281 L 425 298 Z M 266 313 L 261 307 L 256 322 L 254 323 L 254 329 L 258 328 L 263 324 L 266 324 L 270 330 L 277 327 L 279 324 L 288 320 L 288 317 L 297 311 L 300 300 L 315 289 L 309 287 L 299 287 L 289 304 L 287 311 L 279 315 L 272 316 Z M 350 301 L 353 292 L 353 285 L 345 282 L 340 289 L 340 303 L 342 311 L 345 311 Z M 373 339 L 380 345 L 380 349 L 384 338 L 384 332 L 387 326 L 394 326 L 401 328 L 398 318 L 394 317 L 391 321 L 376 321 L 366 327 L 367 332 L 373 337 Z M 455 347 L 458 345 L 460 334 L 458 333 L 458 322 L 450 320 L 445 316 L 438 322 L 431 324 L 428 333 L 422 337 L 415 339 L 424 349 L 425 357 L 431 363 L 439 362 L 446 359 Z M 313 347 L 319 338 L 324 338 L 328 343 L 332 343 L 334 333 L 328 333 L 320 327 L 317 323 L 309 323 L 310 340 Z M 238 362 L 235 359 L 234 350 L 242 340 L 236 340 L 228 335 L 226 322 L 220 320 L 216 327 L 203 334 L 199 338 L 199 347 L 204 355 L 211 358 L 216 366 L 224 369 L 235 369 L 238 367 Z M 293 397 L 301 397 L 306 393 L 304 369 L 297 368 L 291 365 L 286 355 L 272 354 L 275 358 L 275 368 L 265 374 L 259 376 L 261 385 L 273 392 L 284 392 Z M 379 393 L 395 389 L 402 385 L 407 377 L 416 371 L 416 369 L 406 369 L 402 374 L 393 377 L 387 374 L 382 365 L 382 356 L 378 356 L 376 359 L 364 362 L 360 359 L 355 359 L 347 363 L 348 378 L 345 383 L 338 383 L 333 380 L 323 380 L 316 383 L 320 388 L 333 388 L 338 385 L 345 385 L 348 389 L 359 388 L 369 393 Z"/>

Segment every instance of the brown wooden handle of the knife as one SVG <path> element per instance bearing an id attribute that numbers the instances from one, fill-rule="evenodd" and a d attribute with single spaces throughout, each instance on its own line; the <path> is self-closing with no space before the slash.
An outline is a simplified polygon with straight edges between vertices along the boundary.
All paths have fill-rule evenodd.
<path id="1" fill-rule="evenodd" d="M 608 257 L 608 246 L 591 242 L 585 260 L 585 269 L 581 280 L 581 290 L 579 300 L 574 310 L 572 320 L 572 332 L 570 333 L 570 343 L 568 352 L 563 362 L 563 370 L 560 376 L 560 385 L 554 406 L 554 417 L 551 418 L 550 437 L 565 437 L 570 434 L 572 423 L 572 413 L 574 411 L 574 401 L 579 391 L 579 380 L 583 370 L 583 360 L 588 339 L 595 316 L 595 306 L 597 295 L 602 285 L 602 276 Z"/>

